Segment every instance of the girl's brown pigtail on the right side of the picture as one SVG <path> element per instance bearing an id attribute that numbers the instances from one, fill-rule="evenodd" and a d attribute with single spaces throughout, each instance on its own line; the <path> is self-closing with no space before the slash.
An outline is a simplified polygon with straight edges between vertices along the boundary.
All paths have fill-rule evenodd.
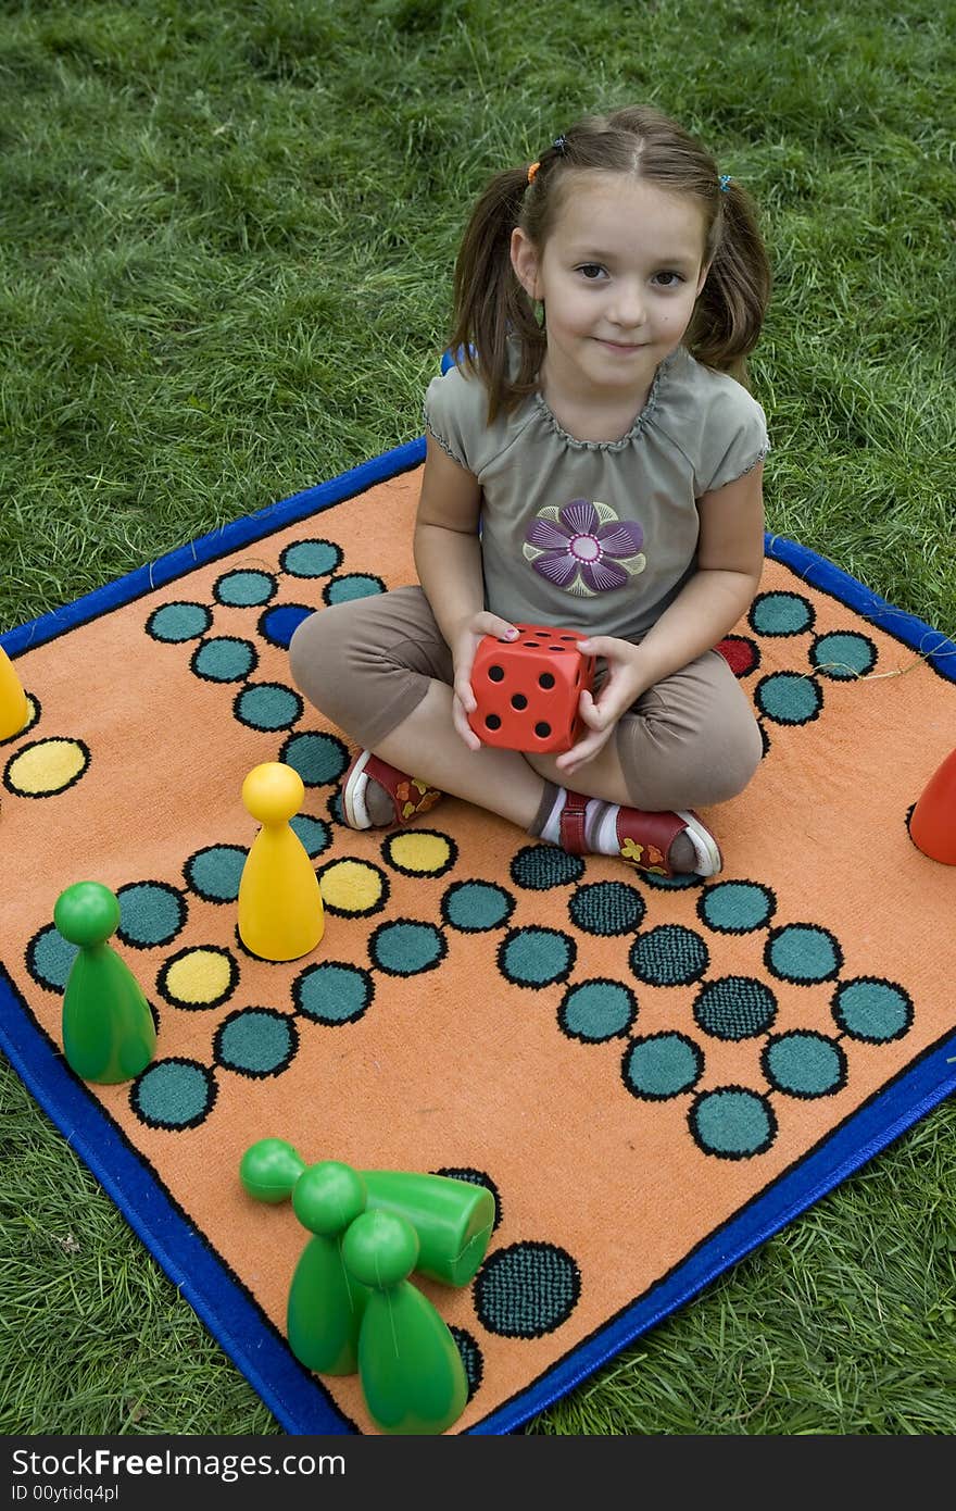
<path id="1" fill-rule="evenodd" d="M 746 189 L 725 180 L 719 202 L 711 233 L 716 249 L 686 345 L 699 363 L 746 384 L 746 357 L 770 301 L 770 263 Z"/>

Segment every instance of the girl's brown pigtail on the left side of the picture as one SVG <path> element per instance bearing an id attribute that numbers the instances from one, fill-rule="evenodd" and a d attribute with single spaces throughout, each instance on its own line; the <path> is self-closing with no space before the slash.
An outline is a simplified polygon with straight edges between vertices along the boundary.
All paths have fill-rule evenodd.
<path id="1" fill-rule="evenodd" d="M 535 307 L 510 264 L 510 234 L 529 187 L 527 168 L 509 168 L 477 201 L 455 264 L 456 361 L 479 373 L 488 390 L 488 423 L 533 390 L 545 337 Z M 520 367 L 509 373 L 509 337 L 518 338 Z"/>

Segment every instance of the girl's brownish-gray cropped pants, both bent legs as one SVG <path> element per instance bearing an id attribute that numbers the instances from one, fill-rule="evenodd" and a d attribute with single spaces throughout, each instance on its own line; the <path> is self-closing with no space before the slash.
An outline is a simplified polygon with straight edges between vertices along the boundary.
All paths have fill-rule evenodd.
<path id="1" fill-rule="evenodd" d="M 305 697 L 373 751 L 417 707 L 433 677 L 453 681 L 421 588 L 320 609 L 290 644 Z M 705 808 L 742 792 L 763 742 L 749 700 L 717 651 L 648 688 L 618 721 L 618 756 L 636 808 Z"/>

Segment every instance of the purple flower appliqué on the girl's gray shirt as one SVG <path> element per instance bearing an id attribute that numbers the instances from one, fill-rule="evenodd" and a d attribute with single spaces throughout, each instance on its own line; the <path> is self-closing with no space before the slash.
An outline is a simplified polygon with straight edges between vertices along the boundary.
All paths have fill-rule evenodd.
<path id="1" fill-rule="evenodd" d="M 619 520 L 607 503 L 574 499 L 563 509 L 541 509 L 526 532 L 524 556 L 535 571 L 565 592 L 591 597 L 622 588 L 643 571 L 643 530 Z"/>

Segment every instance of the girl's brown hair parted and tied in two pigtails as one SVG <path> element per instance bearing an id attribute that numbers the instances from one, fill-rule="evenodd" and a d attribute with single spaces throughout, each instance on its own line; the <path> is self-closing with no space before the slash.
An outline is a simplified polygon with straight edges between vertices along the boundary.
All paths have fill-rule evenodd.
<path id="1" fill-rule="evenodd" d="M 465 228 L 455 264 L 452 351 L 488 388 L 488 422 L 512 409 L 536 384 L 545 354 L 544 323 L 510 264 L 515 227 L 541 251 L 560 213 L 571 174 L 604 169 L 634 174 L 671 193 L 693 195 L 704 213 L 707 283 L 684 337 L 708 367 L 746 381 L 746 355 L 760 337 L 770 298 L 770 264 L 754 202 L 722 178 L 699 142 L 649 106 L 586 116 L 529 169 L 507 168 L 485 187 Z M 509 338 L 518 341 L 518 370 L 509 372 Z"/>

